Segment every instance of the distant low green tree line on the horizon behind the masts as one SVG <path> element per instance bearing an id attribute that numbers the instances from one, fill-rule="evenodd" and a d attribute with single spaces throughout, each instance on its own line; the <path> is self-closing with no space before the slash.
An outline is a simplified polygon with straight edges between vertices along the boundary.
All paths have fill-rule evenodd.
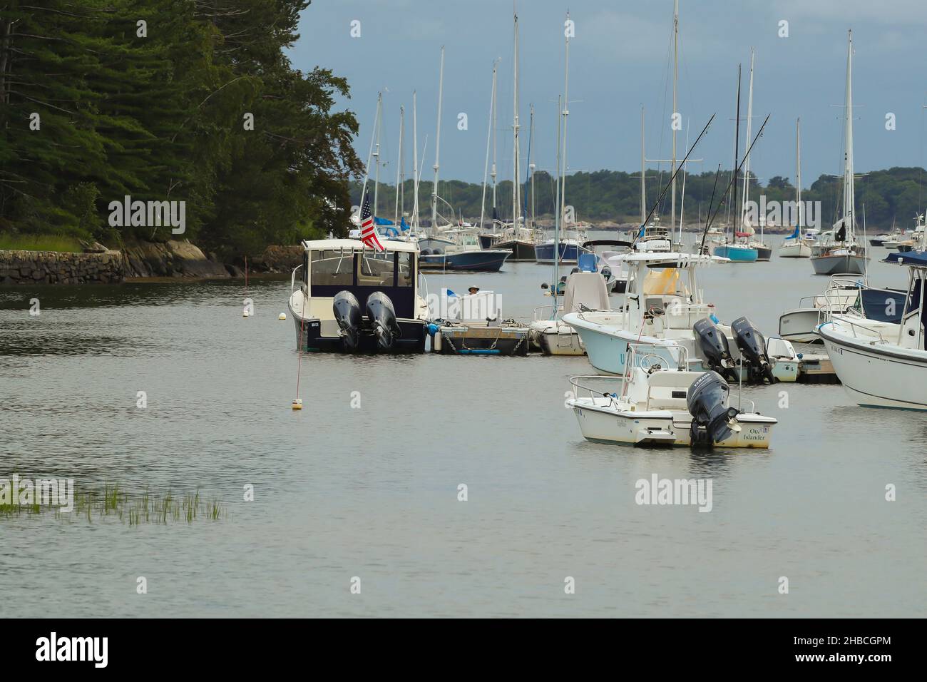
<path id="1" fill-rule="evenodd" d="M 666 187 L 669 174 L 662 174 L 654 169 L 646 173 L 647 211 L 656 201 L 660 188 Z M 927 187 L 922 168 L 890 168 L 887 171 L 873 171 L 857 177 L 857 223 L 862 225 L 863 207 L 866 209 L 866 222 L 870 229 L 885 229 L 892 225 L 908 227 L 914 216 L 924 210 L 927 199 Z M 730 183 L 730 170 L 722 172 L 717 178 L 715 204 L 724 189 Z M 715 173 L 688 174 L 685 178 L 685 199 L 682 202 L 684 219 L 695 222 L 701 215 L 705 221 L 712 188 L 715 186 Z M 419 183 L 419 216 L 421 223 L 427 225 L 431 220 L 430 181 Z M 790 178 L 776 175 L 762 185 L 755 176 L 750 178 L 750 199 L 759 201 L 760 195 L 767 201 L 794 201 L 795 187 Z M 413 181 L 406 180 L 402 186 L 404 195 L 404 212 L 408 216 L 413 207 Z M 374 198 L 373 181 L 368 182 L 371 200 Z M 442 180 L 438 183 L 438 195 L 454 209 L 453 215 L 447 205 L 438 205 L 438 212 L 445 218 L 464 216 L 465 220 L 478 221 L 482 205 L 483 186 L 478 183 L 465 183 L 460 180 Z M 504 181 L 496 187 L 496 206 L 500 218 L 510 220 L 512 216 L 511 181 Z M 527 200 L 527 215 L 531 215 L 531 183 L 522 186 L 522 196 Z M 677 176 L 677 200 L 683 194 L 682 179 Z M 740 179 L 738 194 L 743 194 L 743 176 Z M 396 187 L 380 184 L 377 191 L 377 214 L 389 220 L 396 212 Z M 487 221 L 492 214 L 491 187 L 487 189 L 485 214 Z M 534 177 L 534 213 L 539 220 L 550 220 L 554 214 L 556 180 L 551 174 L 539 171 Z M 351 202 L 360 203 L 361 184 L 351 186 Z M 721 206 L 716 223 L 726 219 L 727 206 L 732 197 Z M 811 187 L 802 190 L 802 201 L 820 201 L 821 224 L 830 227 L 838 218 L 843 206 L 843 177 L 821 175 Z M 572 205 L 578 220 L 595 222 L 610 221 L 615 223 L 639 223 L 641 220 L 641 174 L 629 174 L 621 171 L 595 171 L 592 173 L 575 173 L 566 177 L 566 203 Z M 679 209 L 677 209 L 679 210 Z M 667 192 L 659 214 L 666 223 L 669 218 L 669 192 Z M 408 220 L 408 218 L 407 218 Z"/>

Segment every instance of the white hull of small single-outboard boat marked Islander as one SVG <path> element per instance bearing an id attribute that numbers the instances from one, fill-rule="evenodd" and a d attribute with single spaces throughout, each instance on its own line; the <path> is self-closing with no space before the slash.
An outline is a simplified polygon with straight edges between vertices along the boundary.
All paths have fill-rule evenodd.
<path id="1" fill-rule="evenodd" d="M 583 438 L 592 443 L 616 445 L 689 446 L 692 417 L 687 412 L 654 410 L 620 411 L 592 405 L 589 398 L 567 401 L 576 415 Z M 741 431 L 715 444 L 716 447 L 769 447 L 776 420 L 757 415 L 756 419 L 738 419 Z"/>

